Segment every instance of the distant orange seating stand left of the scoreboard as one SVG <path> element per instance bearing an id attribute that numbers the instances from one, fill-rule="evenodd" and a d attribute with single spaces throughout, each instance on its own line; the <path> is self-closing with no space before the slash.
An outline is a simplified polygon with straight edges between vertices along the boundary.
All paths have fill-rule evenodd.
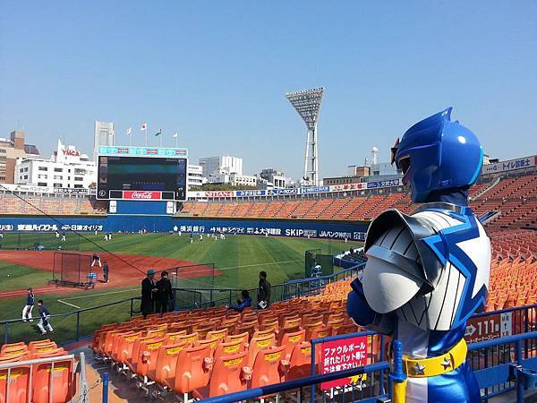
<path id="1" fill-rule="evenodd" d="M 78 215 L 102 214 L 107 211 L 107 203 L 95 198 L 24 196 L 23 199 L 31 204 L 10 194 L 1 193 L 0 214 L 41 214 L 39 210 L 42 210 L 52 215 Z"/>

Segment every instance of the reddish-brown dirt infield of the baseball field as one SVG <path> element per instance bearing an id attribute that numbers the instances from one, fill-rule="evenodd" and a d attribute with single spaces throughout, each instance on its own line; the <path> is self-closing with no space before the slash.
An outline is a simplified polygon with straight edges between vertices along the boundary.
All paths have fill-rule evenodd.
<path id="1" fill-rule="evenodd" d="M 54 253 L 55 251 L 2 251 L 0 252 L 0 261 L 20 264 L 21 266 L 30 267 L 32 269 L 52 272 L 54 268 Z M 91 255 L 92 253 L 82 254 Z M 115 253 L 115 255 L 109 255 L 104 253 L 100 257 L 101 261 L 107 262 L 110 267 L 110 282 L 98 282 L 96 287 L 99 289 L 139 285 L 141 279 L 145 277 L 145 270 L 148 269 L 168 270 L 179 267 L 177 270 L 177 277 L 179 279 L 197 279 L 200 277 L 209 277 L 213 274 L 215 276 L 221 274 L 219 270 L 214 270 L 213 273 L 212 267 L 204 266 L 200 263 L 182 261 L 179 259 L 170 259 L 160 256 L 143 256 L 140 254 L 126 253 Z M 181 267 L 183 267 L 183 269 L 181 269 Z M 99 279 L 102 279 L 102 269 L 100 269 L 98 266 L 95 266 L 93 270 L 98 273 Z M 80 288 L 56 286 L 36 287 L 34 290 L 38 294 L 72 294 L 81 291 Z M 24 296 L 26 295 L 26 292 L 26 289 L 16 289 L 13 291 L 3 292 L 0 293 L 0 299 Z"/>

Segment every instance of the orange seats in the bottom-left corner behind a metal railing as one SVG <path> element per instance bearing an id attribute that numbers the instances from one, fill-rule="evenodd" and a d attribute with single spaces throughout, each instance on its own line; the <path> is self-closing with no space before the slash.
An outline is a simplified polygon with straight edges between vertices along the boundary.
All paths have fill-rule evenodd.
<path id="1" fill-rule="evenodd" d="M 22 342 L 4 344 L 0 350 L 0 364 L 13 364 L 13 367 L 9 371 L 0 370 L 0 402 L 64 403 L 71 400 L 77 390 L 72 359 L 17 365 L 61 356 L 67 356 L 67 352 L 49 339 L 32 341 L 28 345 Z"/>

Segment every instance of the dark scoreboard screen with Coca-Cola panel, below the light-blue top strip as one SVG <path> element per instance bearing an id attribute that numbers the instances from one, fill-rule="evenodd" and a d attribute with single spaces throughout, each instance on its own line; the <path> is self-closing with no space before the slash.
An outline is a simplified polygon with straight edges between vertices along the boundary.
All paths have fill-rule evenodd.
<path id="1" fill-rule="evenodd" d="M 98 199 L 186 199 L 187 159 L 99 156 Z"/>

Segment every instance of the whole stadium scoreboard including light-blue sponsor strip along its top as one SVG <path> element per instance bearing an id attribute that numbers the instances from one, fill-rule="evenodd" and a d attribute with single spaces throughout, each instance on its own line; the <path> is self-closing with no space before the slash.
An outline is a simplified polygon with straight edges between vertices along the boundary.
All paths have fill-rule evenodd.
<path id="1" fill-rule="evenodd" d="M 100 200 L 184 201 L 188 151 L 154 147 L 98 148 Z"/>

